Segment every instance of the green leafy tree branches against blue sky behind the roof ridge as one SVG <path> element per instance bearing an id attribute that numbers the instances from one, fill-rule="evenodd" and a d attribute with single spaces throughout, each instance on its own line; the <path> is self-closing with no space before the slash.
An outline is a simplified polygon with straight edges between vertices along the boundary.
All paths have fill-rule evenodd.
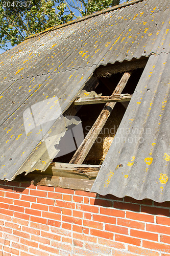
<path id="1" fill-rule="evenodd" d="M 8 42 L 17 45 L 27 36 L 108 8 L 113 2 L 119 0 L 8 0 L 8 7 L 1 1 L 0 48 L 7 49 Z"/>

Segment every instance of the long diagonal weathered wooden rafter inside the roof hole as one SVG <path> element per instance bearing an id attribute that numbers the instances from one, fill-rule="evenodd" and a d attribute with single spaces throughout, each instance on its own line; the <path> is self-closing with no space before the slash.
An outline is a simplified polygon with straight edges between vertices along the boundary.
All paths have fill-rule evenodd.
<path id="1" fill-rule="evenodd" d="M 126 83 L 131 76 L 132 72 L 126 72 L 120 79 L 119 83 L 117 84 L 112 96 L 114 94 L 120 94 L 124 90 Z M 103 126 L 105 125 L 108 117 L 110 116 L 111 111 L 113 110 L 116 102 L 106 103 L 104 106 L 104 109 L 100 113 L 98 119 L 94 122 L 93 126 L 91 127 L 90 131 L 86 135 L 85 139 L 79 146 L 78 150 L 74 154 L 74 156 L 71 158 L 69 163 L 77 163 L 81 164 L 83 163 L 84 159 L 86 158 L 88 152 L 90 151 L 90 148 L 92 147 L 94 141 L 100 134 Z"/>

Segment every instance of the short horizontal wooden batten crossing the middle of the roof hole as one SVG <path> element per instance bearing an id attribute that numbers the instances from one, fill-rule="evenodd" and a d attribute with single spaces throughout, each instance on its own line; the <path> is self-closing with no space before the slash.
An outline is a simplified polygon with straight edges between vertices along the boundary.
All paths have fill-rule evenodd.
<path id="1" fill-rule="evenodd" d="M 115 94 L 111 96 L 94 96 L 76 99 L 75 105 L 87 105 L 87 104 L 98 104 L 107 102 L 123 102 L 130 101 L 132 98 L 131 94 Z"/>

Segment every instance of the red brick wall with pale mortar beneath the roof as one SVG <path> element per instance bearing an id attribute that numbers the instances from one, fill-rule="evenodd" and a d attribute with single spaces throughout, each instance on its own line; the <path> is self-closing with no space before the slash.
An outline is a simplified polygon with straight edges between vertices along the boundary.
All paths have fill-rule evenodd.
<path id="1" fill-rule="evenodd" d="M 170 255 L 169 206 L 1 182 L 0 255 Z"/>

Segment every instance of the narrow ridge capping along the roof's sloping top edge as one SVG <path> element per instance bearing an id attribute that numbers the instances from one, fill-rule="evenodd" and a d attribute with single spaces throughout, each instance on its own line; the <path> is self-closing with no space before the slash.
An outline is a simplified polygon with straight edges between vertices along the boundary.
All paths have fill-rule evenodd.
<path id="1" fill-rule="evenodd" d="M 88 18 L 92 18 L 92 17 L 98 16 L 100 14 L 104 14 L 106 12 L 114 11 L 114 10 L 117 10 L 119 8 L 123 8 L 123 7 L 129 6 L 129 5 L 133 5 L 133 4 L 137 4 L 138 2 L 143 2 L 143 1 L 147 1 L 147 0 L 132 0 L 132 1 L 127 2 L 127 3 L 123 3 L 121 5 L 115 5 L 113 7 L 109 7 L 107 9 L 102 10 L 102 11 L 94 12 L 94 13 L 86 15 L 84 17 L 71 20 L 70 22 L 67 22 L 67 23 L 64 23 L 64 24 L 61 24 L 61 25 L 57 25 L 57 26 L 45 29 L 45 30 L 43 30 L 43 31 L 41 31 L 39 33 L 36 33 L 36 34 L 33 34 L 33 35 L 30 35 L 30 36 L 26 37 L 25 40 L 28 40 L 30 38 L 39 36 L 41 34 L 44 34 L 44 33 L 47 33 L 47 32 L 53 31 L 53 30 L 57 30 L 57 29 L 60 29 L 60 28 L 63 28 L 63 27 L 66 27 L 66 26 L 69 26 L 69 25 L 72 25 L 72 24 L 75 24 L 75 23 L 78 23 L 78 22 L 82 22 L 83 20 L 86 20 Z"/>

